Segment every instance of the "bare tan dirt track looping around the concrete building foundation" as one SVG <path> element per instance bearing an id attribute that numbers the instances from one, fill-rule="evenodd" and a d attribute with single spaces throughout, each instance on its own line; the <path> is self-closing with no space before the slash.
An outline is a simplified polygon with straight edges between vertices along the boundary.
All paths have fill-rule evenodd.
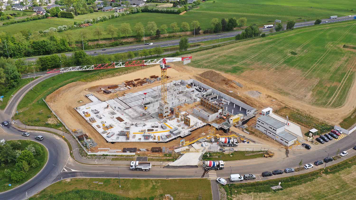
<path id="1" fill-rule="evenodd" d="M 241 77 L 235 77 L 229 74 L 214 74 L 214 76 L 206 76 L 209 79 L 215 81 L 211 82 L 208 79 L 205 79 L 199 74 L 204 71 L 208 71 L 206 69 L 199 69 L 193 67 L 183 66 L 183 64 L 171 64 L 172 69 L 169 69 L 167 74 L 169 76 L 168 81 L 179 80 L 179 79 L 191 79 L 194 78 L 196 80 L 202 81 L 205 84 L 214 87 L 220 91 L 229 93 L 229 95 L 240 99 L 241 101 L 250 104 L 256 109 L 263 109 L 265 107 L 278 108 L 287 104 L 288 106 L 298 108 L 300 110 L 304 110 L 308 114 L 315 115 L 320 119 L 324 119 L 329 121 L 330 123 L 337 124 L 341 121 L 347 114 L 349 114 L 356 104 L 356 87 L 355 84 L 352 86 L 349 97 L 346 100 L 346 104 L 343 107 L 331 109 L 331 108 L 319 108 L 315 106 L 311 106 L 309 104 L 305 104 L 303 102 L 299 102 L 296 99 L 292 99 L 289 97 L 281 96 L 280 94 L 273 93 L 268 90 L 268 88 L 263 88 L 261 86 L 253 85 Z M 108 85 L 120 84 L 125 80 L 133 80 L 137 78 L 149 77 L 151 75 L 159 75 L 160 69 L 158 66 L 152 66 L 149 68 L 145 68 L 142 70 L 138 70 L 132 72 L 130 74 L 125 74 L 117 77 L 112 77 L 109 79 L 98 80 L 94 82 L 73 82 L 66 86 L 59 88 L 54 91 L 52 94 L 48 95 L 46 98 L 46 102 L 49 107 L 51 107 L 54 112 L 58 115 L 59 118 L 63 120 L 63 122 L 70 129 L 83 129 L 89 137 L 93 138 L 101 148 L 114 148 L 114 147 L 132 147 L 132 146 L 140 146 L 145 148 L 150 148 L 153 146 L 173 146 L 179 144 L 179 140 L 173 140 L 164 144 L 155 144 L 151 142 L 136 142 L 136 143 L 116 143 L 110 144 L 107 143 L 106 140 L 98 134 L 94 128 L 92 128 L 87 121 L 85 121 L 73 108 L 81 106 L 86 103 L 90 103 L 90 100 L 85 97 L 85 94 L 93 93 L 96 97 L 98 97 L 101 101 L 106 101 L 108 99 L 115 98 L 117 95 L 121 96 L 122 94 L 137 92 L 143 90 L 145 88 L 150 88 L 153 86 L 157 86 L 161 84 L 161 82 L 155 82 L 154 84 L 148 84 L 146 86 L 137 87 L 135 89 L 131 89 L 125 92 L 116 93 L 116 94 L 104 94 L 103 92 L 97 92 L 100 90 L 100 87 L 105 87 Z M 216 76 L 224 76 L 224 77 L 216 77 Z M 243 85 L 242 88 L 233 86 L 230 84 L 231 80 L 238 81 Z M 219 82 L 224 81 L 224 82 Z M 232 91 L 232 92 L 229 92 Z M 250 96 L 248 95 L 248 91 L 258 91 L 260 93 L 259 96 Z M 275 101 L 272 101 L 275 100 Z M 81 102 L 79 102 L 81 101 Z M 193 136 L 192 136 L 193 137 Z M 186 140 L 189 140 L 187 138 Z"/>

